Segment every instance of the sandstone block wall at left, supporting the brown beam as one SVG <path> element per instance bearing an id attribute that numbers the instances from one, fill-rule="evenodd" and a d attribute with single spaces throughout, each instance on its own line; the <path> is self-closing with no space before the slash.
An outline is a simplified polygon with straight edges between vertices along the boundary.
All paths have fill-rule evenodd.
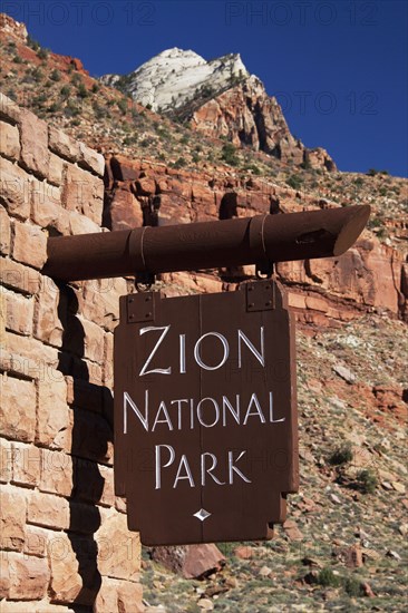
<path id="1" fill-rule="evenodd" d="M 2 612 L 143 610 L 113 471 L 125 279 L 57 285 L 47 236 L 101 232 L 104 159 L 0 98 Z"/>

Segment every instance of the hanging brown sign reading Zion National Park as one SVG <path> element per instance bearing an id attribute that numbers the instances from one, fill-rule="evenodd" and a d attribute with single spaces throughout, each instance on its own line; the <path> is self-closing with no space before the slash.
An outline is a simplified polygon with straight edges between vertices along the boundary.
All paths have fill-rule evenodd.
<path id="1" fill-rule="evenodd" d="M 294 325 L 281 285 L 123 296 L 115 488 L 142 542 L 269 538 L 298 480 Z"/>

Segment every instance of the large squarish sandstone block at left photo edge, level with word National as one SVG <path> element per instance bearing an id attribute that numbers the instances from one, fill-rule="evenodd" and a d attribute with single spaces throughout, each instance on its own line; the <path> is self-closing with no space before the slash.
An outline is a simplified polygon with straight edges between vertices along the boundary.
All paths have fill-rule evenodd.
<path id="1" fill-rule="evenodd" d="M 36 390 L 31 381 L 0 374 L 1 434 L 16 440 L 32 441 L 36 429 Z"/>

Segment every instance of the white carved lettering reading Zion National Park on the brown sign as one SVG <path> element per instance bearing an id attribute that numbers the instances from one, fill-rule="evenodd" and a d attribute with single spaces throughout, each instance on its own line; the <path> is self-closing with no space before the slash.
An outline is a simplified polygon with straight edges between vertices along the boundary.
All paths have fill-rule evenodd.
<path id="1" fill-rule="evenodd" d="M 166 327 L 147 327 L 139 330 L 139 335 L 150 334 L 155 344 L 140 368 L 139 377 L 146 374 L 172 374 L 172 367 L 165 364 L 165 358 L 161 358 L 162 344 L 166 346 L 166 337 L 171 329 L 171 325 Z M 158 333 L 158 335 L 157 335 Z M 221 348 L 221 359 L 216 364 L 208 364 L 202 358 L 202 343 L 205 339 L 213 339 L 213 342 L 217 343 Z M 206 341 L 208 342 L 208 341 Z M 187 372 L 186 366 L 186 342 L 185 334 L 178 335 L 178 372 L 185 374 Z M 252 353 L 260 364 L 265 368 L 264 358 L 264 328 L 260 328 L 260 343 L 259 349 L 251 342 L 246 334 L 242 330 L 237 330 L 236 339 L 236 353 L 237 353 L 237 368 L 242 368 L 244 351 Z M 156 356 L 157 354 L 157 356 Z M 168 353 L 166 353 L 168 354 Z M 193 351 L 194 362 L 203 370 L 214 371 L 222 368 L 230 358 L 230 344 L 226 338 L 220 332 L 207 332 L 198 338 L 194 346 Z M 157 363 L 155 368 L 152 368 L 154 361 L 162 360 L 161 368 Z M 205 397 L 196 400 L 195 398 L 177 398 L 165 402 L 162 400 L 157 407 L 150 407 L 149 403 L 149 390 L 145 390 L 144 412 L 134 402 L 127 391 L 124 392 L 124 434 L 128 432 L 128 412 L 136 418 L 136 421 L 146 430 L 146 432 L 154 432 L 156 428 L 167 428 L 168 431 L 190 429 L 194 430 L 197 425 L 203 428 L 214 428 L 215 426 L 227 427 L 230 424 L 237 424 L 239 426 L 246 426 L 250 419 L 258 419 L 260 424 L 278 424 L 285 420 L 285 418 L 274 419 L 273 413 L 273 393 L 269 391 L 268 407 L 261 407 L 256 393 L 249 393 L 245 399 L 241 398 L 239 393 L 235 398 L 227 398 L 221 396 L 221 398 Z M 226 480 L 221 480 L 218 476 L 214 474 L 218 466 L 218 459 L 214 454 L 208 451 L 202 453 L 200 456 L 200 479 L 194 478 L 191 463 L 185 454 L 181 455 L 176 461 L 176 453 L 171 445 L 155 445 L 155 488 L 162 487 L 162 474 L 165 469 L 173 467 L 173 488 L 176 488 L 181 481 L 187 481 L 190 487 L 205 486 L 207 476 L 220 486 L 233 485 L 234 477 L 242 479 L 245 483 L 251 480 L 235 466 L 235 463 L 240 461 L 245 455 L 245 450 L 230 450 L 226 458 Z M 166 457 L 165 457 L 166 456 Z M 235 456 L 235 457 L 234 457 Z"/>

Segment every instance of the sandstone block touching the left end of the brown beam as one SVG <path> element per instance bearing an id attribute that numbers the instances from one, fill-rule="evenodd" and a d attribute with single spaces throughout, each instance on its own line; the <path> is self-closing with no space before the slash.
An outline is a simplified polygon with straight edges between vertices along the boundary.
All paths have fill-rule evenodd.
<path id="1" fill-rule="evenodd" d="M 42 269 L 47 261 L 47 235 L 36 225 L 14 222 L 12 256 L 18 262 Z"/>

